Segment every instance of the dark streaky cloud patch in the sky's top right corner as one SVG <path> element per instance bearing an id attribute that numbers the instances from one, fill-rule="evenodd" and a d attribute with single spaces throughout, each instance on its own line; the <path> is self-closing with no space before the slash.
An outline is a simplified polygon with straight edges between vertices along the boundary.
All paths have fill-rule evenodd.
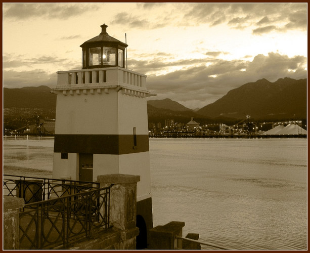
<path id="1" fill-rule="evenodd" d="M 227 22 L 232 28 L 244 29 L 252 25 L 261 26 L 253 34 L 270 32 L 266 27 L 279 27 L 279 30 L 306 30 L 307 6 L 305 3 L 268 3 L 268 4 L 189 4 L 184 17 L 192 25 L 207 23 L 210 26 Z M 257 21 L 259 20 L 259 21 Z M 279 24 L 286 23 L 280 27 Z M 269 24 L 270 26 L 266 26 Z"/>

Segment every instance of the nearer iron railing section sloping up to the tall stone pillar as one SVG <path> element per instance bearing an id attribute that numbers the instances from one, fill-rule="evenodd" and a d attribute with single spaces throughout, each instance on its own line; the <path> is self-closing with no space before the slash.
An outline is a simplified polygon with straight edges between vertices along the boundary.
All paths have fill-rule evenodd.
<path id="1" fill-rule="evenodd" d="M 50 249 L 109 228 L 110 187 L 28 203 L 20 211 L 20 249 Z"/>

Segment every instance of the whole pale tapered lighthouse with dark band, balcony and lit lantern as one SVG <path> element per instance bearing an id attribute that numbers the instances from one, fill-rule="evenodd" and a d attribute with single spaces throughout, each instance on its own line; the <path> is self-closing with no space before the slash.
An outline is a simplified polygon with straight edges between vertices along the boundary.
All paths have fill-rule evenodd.
<path id="1" fill-rule="evenodd" d="M 80 46 L 81 69 L 57 72 L 51 91 L 57 94 L 53 178 L 97 181 L 106 174 L 140 175 L 137 226 L 143 248 L 142 232 L 153 227 L 150 92 L 146 75 L 125 68 L 128 45 L 110 36 L 107 27 L 101 25 L 101 33 Z"/>

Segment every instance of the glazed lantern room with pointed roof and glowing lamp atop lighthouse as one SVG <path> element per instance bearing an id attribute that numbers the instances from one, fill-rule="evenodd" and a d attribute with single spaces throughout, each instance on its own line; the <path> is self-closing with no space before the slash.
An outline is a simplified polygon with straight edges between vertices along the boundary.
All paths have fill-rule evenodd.
<path id="1" fill-rule="evenodd" d="M 107 25 L 101 25 L 101 33 L 87 41 L 82 48 L 82 69 L 124 67 L 125 48 L 128 46 L 107 33 Z"/>

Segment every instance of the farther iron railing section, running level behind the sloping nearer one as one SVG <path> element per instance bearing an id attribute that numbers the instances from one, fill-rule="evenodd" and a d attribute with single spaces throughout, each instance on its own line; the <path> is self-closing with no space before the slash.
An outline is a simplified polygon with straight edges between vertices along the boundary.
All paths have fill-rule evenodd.
<path id="1" fill-rule="evenodd" d="M 3 194 L 20 197 L 25 204 L 99 188 L 96 182 L 4 175 Z"/>

